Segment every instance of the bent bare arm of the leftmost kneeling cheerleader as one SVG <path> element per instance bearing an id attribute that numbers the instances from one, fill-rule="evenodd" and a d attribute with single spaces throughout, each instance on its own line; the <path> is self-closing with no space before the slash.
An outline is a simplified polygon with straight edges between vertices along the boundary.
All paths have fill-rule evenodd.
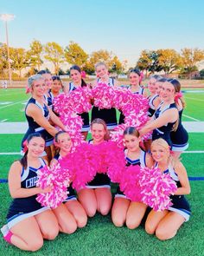
<path id="1" fill-rule="evenodd" d="M 22 188 L 21 187 L 22 165 L 20 161 L 15 161 L 10 167 L 9 187 L 12 198 L 26 198 L 35 194 L 50 192 L 50 187 L 42 189 L 41 187 Z"/>

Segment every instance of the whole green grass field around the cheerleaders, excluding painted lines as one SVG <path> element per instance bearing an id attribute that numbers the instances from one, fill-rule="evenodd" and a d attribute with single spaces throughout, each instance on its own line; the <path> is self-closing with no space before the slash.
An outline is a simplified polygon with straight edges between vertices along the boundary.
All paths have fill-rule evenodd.
<path id="1" fill-rule="evenodd" d="M 204 121 L 204 89 L 185 89 L 187 108 L 183 121 Z M 199 92 L 195 92 L 199 90 Z M 201 92 L 202 90 L 202 92 Z M 24 89 L 0 89 L 0 122 L 25 121 L 24 103 L 28 99 Z M 195 120 L 194 120 L 195 119 Z M 22 135 L 0 135 L 0 180 L 6 179 L 10 164 L 18 159 L 18 154 L 1 154 L 19 152 Z M 204 140 L 202 133 L 189 134 L 188 151 L 203 151 Z M 189 177 L 204 176 L 204 154 L 182 154 L 182 162 L 188 170 Z M 125 226 L 113 226 L 110 214 L 102 217 L 97 214 L 88 220 L 85 228 L 72 235 L 60 234 L 52 242 L 45 241 L 39 252 L 32 255 L 138 255 L 138 256 L 170 256 L 170 255 L 204 255 L 203 246 L 203 213 L 204 181 L 190 181 L 191 194 L 187 196 L 192 217 L 179 230 L 173 240 L 159 241 L 156 237 L 144 232 L 143 226 L 136 230 L 129 230 Z M 114 193 L 114 187 L 112 188 Z M 6 213 L 10 205 L 10 195 L 7 183 L 0 183 L 0 226 L 5 222 Z M 0 235 L 0 255 L 28 255 L 14 246 L 3 241 Z"/>

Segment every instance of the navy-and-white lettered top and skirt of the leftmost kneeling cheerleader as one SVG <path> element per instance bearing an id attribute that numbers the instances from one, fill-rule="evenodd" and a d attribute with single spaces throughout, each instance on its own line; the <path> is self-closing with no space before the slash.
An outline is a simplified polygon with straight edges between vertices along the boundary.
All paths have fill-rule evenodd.
<path id="1" fill-rule="evenodd" d="M 39 161 L 41 162 L 41 167 L 44 167 L 46 165 L 43 159 L 39 158 Z M 37 169 L 34 167 L 27 167 L 26 169 L 22 167 L 22 188 L 36 187 L 36 182 L 38 180 L 37 171 L 41 169 L 41 167 Z M 9 213 L 7 214 L 7 220 L 9 220 L 10 218 L 15 218 L 16 215 L 19 214 L 32 213 L 41 209 L 41 204 L 37 200 L 35 200 L 36 197 L 37 194 L 25 198 L 15 198 L 10 204 Z"/>

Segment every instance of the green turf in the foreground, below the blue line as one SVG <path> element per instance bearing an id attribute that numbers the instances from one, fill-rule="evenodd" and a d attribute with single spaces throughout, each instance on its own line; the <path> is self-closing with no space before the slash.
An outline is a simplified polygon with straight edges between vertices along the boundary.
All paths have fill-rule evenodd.
<path id="1" fill-rule="evenodd" d="M 3 200 L 1 202 L 0 226 L 5 221 L 7 209 L 10 205 L 8 188 L 2 184 Z M 188 200 L 192 207 L 192 217 L 178 231 L 175 238 L 167 241 L 156 240 L 155 236 L 145 233 L 143 226 L 136 230 L 115 227 L 112 225 L 110 215 L 102 217 L 97 214 L 88 220 L 83 229 L 72 235 L 60 234 L 54 241 L 45 241 L 39 252 L 32 255 L 138 255 L 138 256 L 199 256 L 203 255 L 203 212 L 201 201 L 204 200 L 203 182 L 191 182 L 192 193 Z M 14 246 L 6 244 L 2 237 L 0 246 L 3 248 L 1 255 L 28 255 Z"/>

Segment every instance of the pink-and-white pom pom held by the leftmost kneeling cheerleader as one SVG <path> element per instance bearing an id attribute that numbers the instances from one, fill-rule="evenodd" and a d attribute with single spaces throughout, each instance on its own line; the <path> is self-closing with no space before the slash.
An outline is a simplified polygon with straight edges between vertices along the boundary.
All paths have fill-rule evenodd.
<path id="1" fill-rule="evenodd" d="M 37 186 L 42 189 L 52 187 L 52 190 L 48 193 L 38 194 L 36 200 L 41 203 L 41 206 L 58 207 L 67 198 L 67 187 L 70 184 L 68 170 L 61 168 L 58 163 L 53 167 L 42 167 L 37 174 L 39 178 Z"/>

